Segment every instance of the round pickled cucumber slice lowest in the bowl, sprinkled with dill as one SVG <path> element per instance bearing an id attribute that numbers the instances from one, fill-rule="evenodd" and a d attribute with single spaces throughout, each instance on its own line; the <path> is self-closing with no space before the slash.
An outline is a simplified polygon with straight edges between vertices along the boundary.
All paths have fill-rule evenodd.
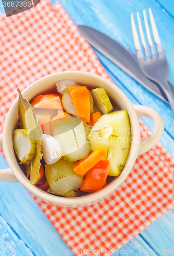
<path id="1" fill-rule="evenodd" d="M 74 190 L 80 188 L 83 176 L 73 170 L 74 163 L 64 159 L 45 166 L 46 178 L 53 193 L 63 197 L 75 197 Z"/>

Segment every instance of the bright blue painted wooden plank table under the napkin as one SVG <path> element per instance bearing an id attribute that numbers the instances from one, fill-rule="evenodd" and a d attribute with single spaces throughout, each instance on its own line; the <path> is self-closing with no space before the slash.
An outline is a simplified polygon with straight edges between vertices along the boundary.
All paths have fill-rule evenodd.
<path id="1" fill-rule="evenodd" d="M 53 0 L 54 4 L 56 0 Z M 174 84 L 174 2 L 173 0 L 60 0 L 76 25 L 88 25 L 107 34 L 135 53 L 130 13 L 148 8 L 153 10 L 162 46 L 169 63 L 168 80 Z M 0 2 L 0 14 L 4 13 Z M 0 39 L 1 40 L 1 39 Z M 129 77 L 112 61 L 95 50 L 106 72 L 134 104 L 143 104 L 157 110 L 164 120 L 161 143 L 174 157 L 174 118 L 169 105 Z M 143 121 L 153 131 L 148 118 Z M 0 154 L 0 168 L 8 165 Z M 118 252 L 139 255 L 138 250 L 173 249 L 174 209 L 169 210 L 122 246 Z M 0 182 L 0 255 L 67 255 L 68 246 L 39 209 L 26 189 L 18 183 Z M 128 250 L 128 253 L 126 252 Z M 150 251 L 151 252 L 151 251 Z M 159 252 L 159 250 L 158 250 Z M 149 253 L 155 255 L 156 253 Z M 161 250 L 159 255 L 167 255 Z M 170 255 L 170 253 L 169 253 Z"/>

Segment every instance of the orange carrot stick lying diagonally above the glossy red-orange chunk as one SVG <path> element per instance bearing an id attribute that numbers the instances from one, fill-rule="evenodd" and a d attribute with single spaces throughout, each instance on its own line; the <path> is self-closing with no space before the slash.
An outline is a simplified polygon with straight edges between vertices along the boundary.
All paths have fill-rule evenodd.
<path id="1" fill-rule="evenodd" d="M 98 163 L 106 155 L 105 150 L 99 147 L 97 150 L 92 152 L 90 155 L 81 159 L 78 163 L 73 166 L 76 174 L 84 175 L 91 169 L 96 163 Z"/>

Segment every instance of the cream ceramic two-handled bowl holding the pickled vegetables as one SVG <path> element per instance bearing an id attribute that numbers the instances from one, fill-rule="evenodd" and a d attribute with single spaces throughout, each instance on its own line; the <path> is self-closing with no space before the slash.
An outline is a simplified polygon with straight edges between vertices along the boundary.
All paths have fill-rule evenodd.
<path id="1" fill-rule="evenodd" d="M 34 96 L 53 90 L 55 88 L 55 81 L 61 79 L 73 79 L 78 84 L 88 86 L 89 89 L 104 88 L 107 95 L 110 97 L 110 99 L 116 102 L 120 110 L 127 110 L 132 128 L 132 143 L 130 145 L 130 151 L 125 163 L 125 167 L 123 168 L 121 174 L 116 177 L 110 184 L 97 191 L 96 193 L 77 198 L 64 198 L 54 196 L 32 185 L 24 175 L 23 171 L 20 169 L 13 150 L 12 134 L 16 129 L 16 123 L 18 121 L 17 97 L 6 117 L 3 134 L 0 135 L 0 146 L 4 147 L 6 160 L 10 167 L 8 169 L 0 169 L 0 180 L 20 182 L 33 195 L 43 199 L 46 202 L 50 202 L 59 206 L 86 206 L 94 204 L 108 197 L 120 186 L 120 184 L 129 175 L 137 156 L 148 151 L 159 141 L 163 133 L 164 124 L 161 116 L 157 111 L 148 108 L 147 106 L 133 105 L 126 97 L 126 95 L 118 87 L 115 86 L 115 84 L 100 76 L 86 72 L 67 71 L 48 75 L 33 82 L 29 87 L 27 87 L 22 93 L 23 97 L 30 101 Z M 146 140 L 140 139 L 140 125 L 138 121 L 138 117 L 140 116 L 150 117 L 155 123 L 153 134 Z"/>

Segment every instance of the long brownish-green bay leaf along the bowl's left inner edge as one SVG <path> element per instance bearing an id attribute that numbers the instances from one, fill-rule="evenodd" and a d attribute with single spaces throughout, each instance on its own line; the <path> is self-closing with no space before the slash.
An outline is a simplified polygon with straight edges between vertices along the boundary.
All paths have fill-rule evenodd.
<path id="1" fill-rule="evenodd" d="M 41 154 L 41 136 L 42 131 L 40 126 L 38 125 L 38 121 L 36 116 L 34 115 L 33 108 L 27 99 L 24 99 L 21 95 L 19 89 L 17 89 L 19 93 L 18 100 L 18 116 L 20 120 L 20 129 L 26 129 L 28 131 L 28 135 L 32 134 L 36 140 L 36 153 L 34 155 L 33 161 L 26 165 L 27 169 L 27 177 L 30 175 L 30 182 L 35 184 L 37 179 L 39 178 L 39 168 L 40 168 L 40 160 L 42 159 Z"/>

